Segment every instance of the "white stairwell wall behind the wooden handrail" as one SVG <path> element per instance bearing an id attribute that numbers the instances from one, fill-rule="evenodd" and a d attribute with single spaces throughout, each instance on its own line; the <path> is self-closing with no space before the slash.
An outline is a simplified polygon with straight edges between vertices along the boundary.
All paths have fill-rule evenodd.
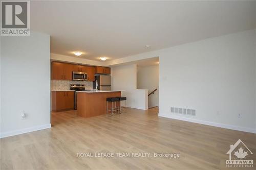
<path id="1" fill-rule="evenodd" d="M 148 107 L 158 106 L 159 98 L 159 65 L 137 67 L 137 89 L 148 89 L 148 93 L 157 88 L 154 94 L 148 96 Z"/>

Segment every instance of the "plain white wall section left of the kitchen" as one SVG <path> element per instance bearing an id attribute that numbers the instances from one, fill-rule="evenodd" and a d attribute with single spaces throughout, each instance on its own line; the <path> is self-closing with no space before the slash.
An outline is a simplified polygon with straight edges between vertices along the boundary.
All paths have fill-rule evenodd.
<path id="1" fill-rule="evenodd" d="M 50 127 L 50 36 L 1 36 L 1 137 Z"/>

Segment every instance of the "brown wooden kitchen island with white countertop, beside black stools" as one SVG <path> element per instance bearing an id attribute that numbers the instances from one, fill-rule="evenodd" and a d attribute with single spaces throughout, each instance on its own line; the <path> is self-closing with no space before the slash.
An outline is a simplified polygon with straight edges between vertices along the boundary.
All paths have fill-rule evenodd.
<path id="1" fill-rule="evenodd" d="M 77 91 L 77 115 L 87 118 L 106 114 L 106 98 L 118 96 L 121 96 L 120 90 Z"/>

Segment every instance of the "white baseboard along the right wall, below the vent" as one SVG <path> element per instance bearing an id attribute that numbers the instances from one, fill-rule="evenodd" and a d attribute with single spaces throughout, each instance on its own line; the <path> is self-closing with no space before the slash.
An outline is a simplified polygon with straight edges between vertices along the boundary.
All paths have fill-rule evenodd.
<path id="1" fill-rule="evenodd" d="M 192 123 L 197 123 L 197 124 L 215 126 L 215 127 L 219 127 L 219 128 L 225 128 L 225 129 L 231 129 L 231 130 L 237 130 L 237 131 L 243 131 L 243 132 L 249 132 L 249 133 L 255 133 L 256 134 L 256 129 L 253 129 L 253 128 L 246 128 L 246 127 L 240 127 L 240 126 L 220 124 L 220 123 L 215 123 L 215 122 L 208 122 L 208 121 L 205 121 L 205 120 L 199 120 L 199 119 L 188 118 L 188 117 L 181 117 L 181 116 L 176 116 L 176 115 L 159 114 L 158 116 L 183 120 L 183 121 L 186 121 L 186 122 L 192 122 Z"/>

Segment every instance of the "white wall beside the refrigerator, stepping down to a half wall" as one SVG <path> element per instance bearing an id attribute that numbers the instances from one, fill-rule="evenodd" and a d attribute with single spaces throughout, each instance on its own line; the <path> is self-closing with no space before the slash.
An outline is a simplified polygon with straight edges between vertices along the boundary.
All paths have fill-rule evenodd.
<path id="1" fill-rule="evenodd" d="M 136 109 L 148 109 L 147 90 L 137 90 L 137 65 L 121 65 L 111 68 L 112 90 L 124 90 L 126 106 Z M 124 105 L 124 102 L 122 102 Z"/>

